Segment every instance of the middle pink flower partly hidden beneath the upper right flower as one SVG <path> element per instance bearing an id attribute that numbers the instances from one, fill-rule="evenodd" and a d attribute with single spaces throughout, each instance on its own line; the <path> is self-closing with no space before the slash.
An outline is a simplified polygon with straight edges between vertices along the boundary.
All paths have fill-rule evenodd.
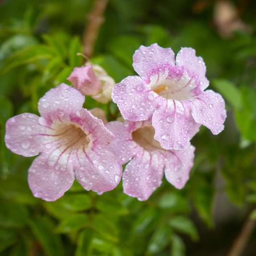
<path id="1" fill-rule="evenodd" d="M 116 136 L 107 148 L 122 164 L 131 160 L 122 175 L 125 194 L 146 200 L 160 186 L 163 173 L 173 186 L 183 188 L 193 166 L 194 146 L 183 150 L 162 148 L 154 139 L 151 118 L 140 122 L 109 122 L 106 127 Z"/>

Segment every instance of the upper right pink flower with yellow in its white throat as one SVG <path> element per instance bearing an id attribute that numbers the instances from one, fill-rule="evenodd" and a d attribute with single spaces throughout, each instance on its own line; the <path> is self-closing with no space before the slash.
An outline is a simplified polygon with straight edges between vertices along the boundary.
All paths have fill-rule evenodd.
<path id="1" fill-rule="evenodd" d="M 190 145 L 195 126 L 205 125 L 213 134 L 224 129 L 223 98 L 205 77 L 206 66 L 192 48 L 182 48 L 176 57 L 171 48 L 157 44 L 141 46 L 133 56 L 134 70 L 113 88 L 112 98 L 124 119 L 143 121 L 152 116 L 155 139 L 166 149 Z"/>

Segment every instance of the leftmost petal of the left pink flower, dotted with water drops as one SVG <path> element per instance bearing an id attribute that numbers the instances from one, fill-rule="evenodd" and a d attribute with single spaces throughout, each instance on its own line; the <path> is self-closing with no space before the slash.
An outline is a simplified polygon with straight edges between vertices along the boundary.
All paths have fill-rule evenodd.
<path id="1" fill-rule="evenodd" d="M 35 114 L 24 113 L 6 122 L 5 144 L 12 152 L 24 157 L 37 156 L 41 152 L 45 127 L 38 122 Z"/>

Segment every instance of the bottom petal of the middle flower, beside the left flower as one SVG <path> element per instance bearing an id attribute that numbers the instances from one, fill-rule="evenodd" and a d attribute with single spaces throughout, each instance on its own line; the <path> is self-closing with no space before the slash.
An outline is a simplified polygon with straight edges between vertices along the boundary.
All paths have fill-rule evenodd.
<path id="1" fill-rule="evenodd" d="M 162 177 L 162 159 L 156 152 L 142 149 L 125 167 L 122 176 L 123 192 L 140 201 L 147 200 L 162 183 Z"/>

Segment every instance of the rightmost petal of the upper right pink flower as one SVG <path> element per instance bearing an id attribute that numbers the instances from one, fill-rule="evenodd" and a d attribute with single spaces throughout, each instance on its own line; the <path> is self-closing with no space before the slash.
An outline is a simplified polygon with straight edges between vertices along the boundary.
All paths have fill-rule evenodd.
<path id="1" fill-rule="evenodd" d="M 213 134 L 224 129 L 227 117 L 223 98 L 212 90 L 202 92 L 191 102 L 192 116 L 195 122 L 205 125 Z"/>

